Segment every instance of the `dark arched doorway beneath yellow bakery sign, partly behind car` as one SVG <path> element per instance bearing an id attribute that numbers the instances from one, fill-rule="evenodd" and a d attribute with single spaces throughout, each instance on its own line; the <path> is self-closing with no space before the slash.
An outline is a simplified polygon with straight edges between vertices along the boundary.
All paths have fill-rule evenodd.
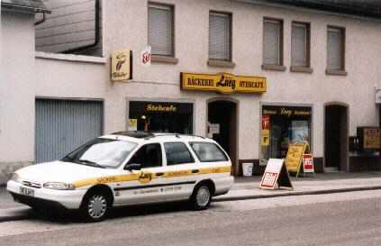
<path id="1" fill-rule="evenodd" d="M 213 134 L 232 163 L 231 173 L 238 175 L 237 166 L 237 104 L 231 101 L 213 101 L 208 104 L 208 123 L 218 124 L 219 133 Z M 209 132 L 209 131 L 208 131 Z"/>

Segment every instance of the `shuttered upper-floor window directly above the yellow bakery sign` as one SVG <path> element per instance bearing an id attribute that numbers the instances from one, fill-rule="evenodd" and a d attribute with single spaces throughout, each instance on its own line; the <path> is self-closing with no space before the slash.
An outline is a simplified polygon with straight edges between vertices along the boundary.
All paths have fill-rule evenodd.
<path id="1" fill-rule="evenodd" d="M 209 14 L 209 59 L 231 61 L 231 14 Z"/>

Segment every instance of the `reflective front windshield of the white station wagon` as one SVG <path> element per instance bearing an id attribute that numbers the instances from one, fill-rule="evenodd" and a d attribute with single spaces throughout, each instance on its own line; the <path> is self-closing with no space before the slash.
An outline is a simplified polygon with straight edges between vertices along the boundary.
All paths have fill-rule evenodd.
<path id="1" fill-rule="evenodd" d="M 97 138 L 86 142 L 61 160 L 96 168 L 115 169 L 137 145 L 132 141 Z"/>

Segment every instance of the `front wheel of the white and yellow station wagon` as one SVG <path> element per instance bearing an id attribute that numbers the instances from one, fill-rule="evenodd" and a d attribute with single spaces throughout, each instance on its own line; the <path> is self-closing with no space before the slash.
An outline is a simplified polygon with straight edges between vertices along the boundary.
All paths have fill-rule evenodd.
<path id="1" fill-rule="evenodd" d="M 85 216 L 86 221 L 99 222 L 104 220 L 110 205 L 109 197 L 103 193 L 92 193 L 86 196 L 81 212 Z"/>

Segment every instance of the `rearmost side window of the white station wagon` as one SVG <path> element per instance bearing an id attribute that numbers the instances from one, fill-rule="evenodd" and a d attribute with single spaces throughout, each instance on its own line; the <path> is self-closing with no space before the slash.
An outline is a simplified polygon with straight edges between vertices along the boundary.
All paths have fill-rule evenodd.
<path id="1" fill-rule="evenodd" d="M 228 157 L 213 142 L 189 142 L 197 158 L 202 162 L 225 161 Z"/>

